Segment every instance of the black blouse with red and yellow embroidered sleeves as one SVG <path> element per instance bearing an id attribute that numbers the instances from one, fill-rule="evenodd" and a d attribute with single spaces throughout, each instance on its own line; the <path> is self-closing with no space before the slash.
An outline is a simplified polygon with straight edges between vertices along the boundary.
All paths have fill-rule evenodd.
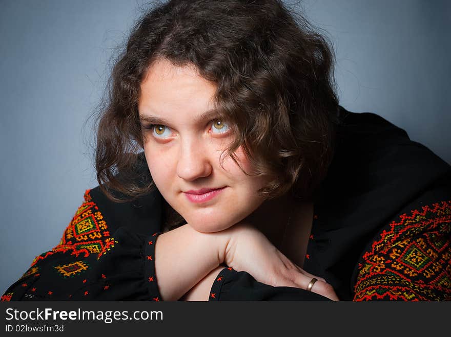
<path id="1" fill-rule="evenodd" d="M 451 167 L 382 117 L 340 109 L 334 160 L 314 203 L 304 269 L 340 300 L 451 299 Z M 158 191 L 124 204 L 87 190 L 58 245 L 2 296 L 159 301 Z M 224 267 L 210 300 L 327 300 Z"/>

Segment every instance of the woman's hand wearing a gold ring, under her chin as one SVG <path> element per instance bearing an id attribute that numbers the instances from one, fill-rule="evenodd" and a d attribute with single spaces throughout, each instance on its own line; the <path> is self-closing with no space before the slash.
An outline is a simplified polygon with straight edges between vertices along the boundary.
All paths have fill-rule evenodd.
<path id="1" fill-rule="evenodd" d="M 224 252 L 224 263 L 236 271 L 245 271 L 258 282 L 272 286 L 306 289 L 313 278 L 316 294 L 338 301 L 334 288 L 324 279 L 305 272 L 283 255 L 260 231 L 238 223 L 230 229 L 230 240 Z"/>

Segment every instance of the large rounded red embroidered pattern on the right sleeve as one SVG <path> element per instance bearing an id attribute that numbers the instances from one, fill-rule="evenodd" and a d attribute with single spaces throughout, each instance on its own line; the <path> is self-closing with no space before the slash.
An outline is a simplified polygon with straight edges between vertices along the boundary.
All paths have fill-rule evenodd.
<path id="1" fill-rule="evenodd" d="M 451 299 L 451 200 L 402 214 L 363 255 L 354 301 Z"/>

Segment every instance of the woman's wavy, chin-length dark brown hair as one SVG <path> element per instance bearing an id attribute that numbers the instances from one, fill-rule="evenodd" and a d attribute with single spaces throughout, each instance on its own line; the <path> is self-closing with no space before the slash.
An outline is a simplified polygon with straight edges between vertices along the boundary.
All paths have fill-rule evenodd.
<path id="1" fill-rule="evenodd" d="M 136 169 L 144 158 L 137 102 L 160 58 L 195 65 L 215 84 L 216 109 L 236 135 L 227 154 L 235 159 L 242 146 L 271 177 L 259 193 L 312 198 L 332 160 L 338 110 L 327 40 L 279 0 L 172 0 L 139 19 L 112 70 L 95 157 L 110 199 L 123 200 L 112 190 L 133 198 L 153 188 L 149 171 Z"/>

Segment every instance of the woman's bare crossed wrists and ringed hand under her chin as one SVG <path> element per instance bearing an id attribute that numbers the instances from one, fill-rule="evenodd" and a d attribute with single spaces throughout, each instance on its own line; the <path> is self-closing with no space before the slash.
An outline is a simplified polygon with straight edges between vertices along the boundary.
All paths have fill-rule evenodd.
<path id="1" fill-rule="evenodd" d="M 160 295 L 166 301 L 178 300 L 190 289 L 207 294 L 208 299 L 215 276 L 211 272 L 221 263 L 273 286 L 306 289 L 314 277 L 292 263 L 249 224 L 238 223 L 215 233 L 197 232 L 185 224 L 159 235 L 155 242 L 155 273 Z M 312 291 L 337 300 L 332 286 L 317 279 Z"/>

